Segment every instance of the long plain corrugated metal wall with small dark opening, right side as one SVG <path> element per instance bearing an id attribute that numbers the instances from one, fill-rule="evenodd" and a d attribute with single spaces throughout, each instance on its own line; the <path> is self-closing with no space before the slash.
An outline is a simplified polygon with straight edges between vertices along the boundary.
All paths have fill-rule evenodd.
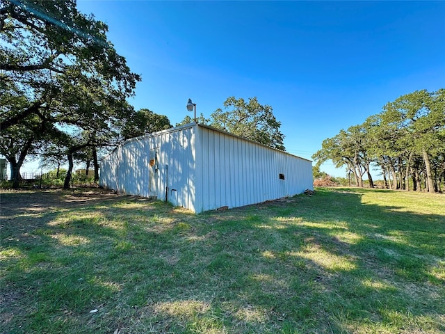
<path id="1" fill-rule="evenodd" d="M 240 207 L 312 187 L 311 161 L 197 127 L 196 211 Z M 284 174 L 284 180 L 280 180 Z"/>

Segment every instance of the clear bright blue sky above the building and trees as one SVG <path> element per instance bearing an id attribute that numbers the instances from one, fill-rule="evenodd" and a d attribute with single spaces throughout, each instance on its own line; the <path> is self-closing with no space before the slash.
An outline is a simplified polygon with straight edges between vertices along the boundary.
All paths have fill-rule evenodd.
<path id="1" fill-rule="evenodd" d="M 256 96 L 282 122 L 286 150 L 307 159 L 387 102 L 445 86 L 442 1 L 78 0 L 78 9 L 108 24 L 142 75 L 136 109 L 175 125 L 192 116 L 188 98 L 209 117 L 229 96 Z"/>

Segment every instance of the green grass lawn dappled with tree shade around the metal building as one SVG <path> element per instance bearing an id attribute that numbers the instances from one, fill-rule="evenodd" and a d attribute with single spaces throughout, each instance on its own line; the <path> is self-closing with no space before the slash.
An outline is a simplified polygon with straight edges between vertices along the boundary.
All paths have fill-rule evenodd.
<path id="1" fill-rule="evenodd" d="M 444 195 L 0 196 L 1 333 L 445 333 Z"/>

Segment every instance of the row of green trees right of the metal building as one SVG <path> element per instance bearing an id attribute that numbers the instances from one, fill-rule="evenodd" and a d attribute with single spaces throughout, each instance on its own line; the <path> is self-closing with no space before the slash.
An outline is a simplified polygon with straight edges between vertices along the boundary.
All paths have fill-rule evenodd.
<path id="1" fill-rule="evenodd" d="M 385 104 L 361 125 L 327 138 L 312 159 L 331 159 L 345 167 L 356 184 L 373 186 L 372 166 L 381 170 L 386 188 L 442 191 L 445 180 L 445 89 L 416 90 Z"/>

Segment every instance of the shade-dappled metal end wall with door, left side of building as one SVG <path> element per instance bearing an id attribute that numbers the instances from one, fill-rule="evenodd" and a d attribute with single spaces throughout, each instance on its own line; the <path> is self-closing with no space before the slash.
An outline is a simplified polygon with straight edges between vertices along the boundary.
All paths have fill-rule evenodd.
<path id="1" fill-rule="evenodd" d="M 165 200 L 165 192 L 168 191 L 168 200 L 173 205 L 195 211 L 194 133 L 195 127 L 189 125 L 122 143 L 102 159 L 99 184 L 118 193 L 156 196 L 160 200 Z M 150 150 L 158 153 L 155 193 L 149 191 Z"/>

